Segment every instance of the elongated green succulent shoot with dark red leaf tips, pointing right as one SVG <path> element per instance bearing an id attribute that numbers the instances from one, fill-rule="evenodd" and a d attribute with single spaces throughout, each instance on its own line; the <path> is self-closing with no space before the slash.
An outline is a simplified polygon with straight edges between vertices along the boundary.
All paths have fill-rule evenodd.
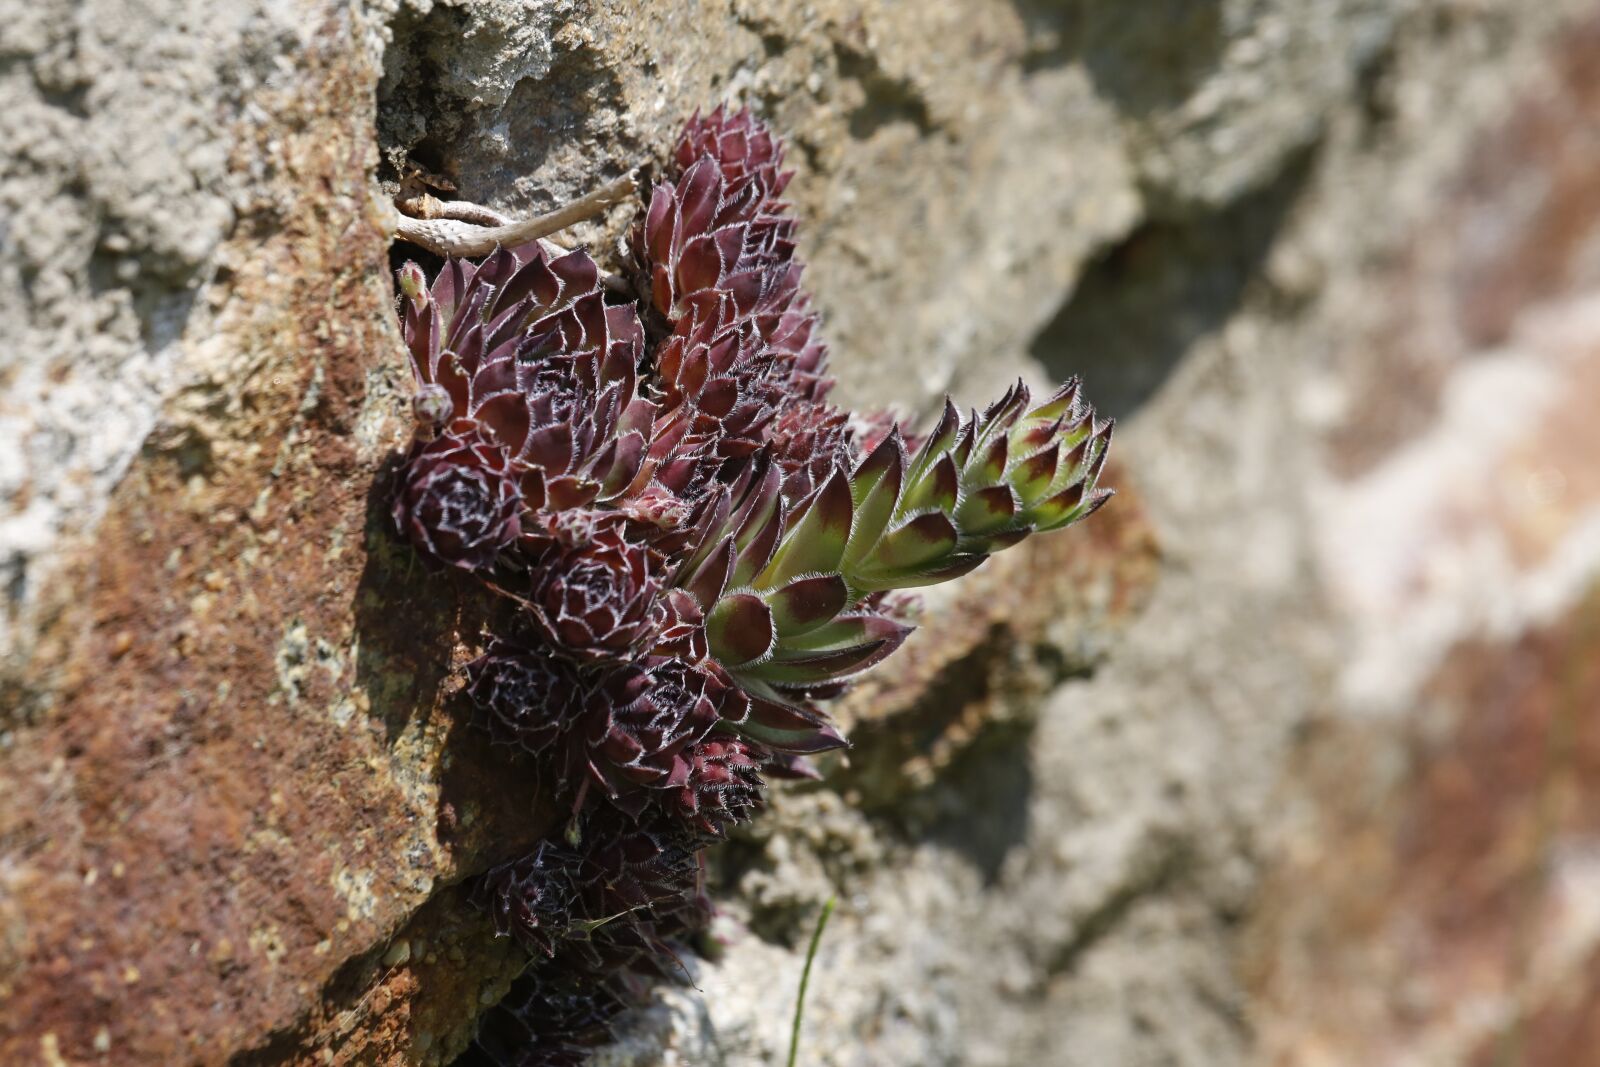
<path id="1" fill-rule="evenodd" d="M 1093 514 L 1110 496 L 1096 488 L 1110 432 L 1080 403 L 1077 381 L 1035 408 L 1019 382 L 966 419 L 947 402 L 915 453 L 891 429 L 792 512 L 773 464 L 709 499 L 674 584 L 694 595 L 710 654 L 750 696 L 738 729 L 784 752 L 837 744 L 810 697 L 909 633 L 870 595 L 957 577 Z"/>

